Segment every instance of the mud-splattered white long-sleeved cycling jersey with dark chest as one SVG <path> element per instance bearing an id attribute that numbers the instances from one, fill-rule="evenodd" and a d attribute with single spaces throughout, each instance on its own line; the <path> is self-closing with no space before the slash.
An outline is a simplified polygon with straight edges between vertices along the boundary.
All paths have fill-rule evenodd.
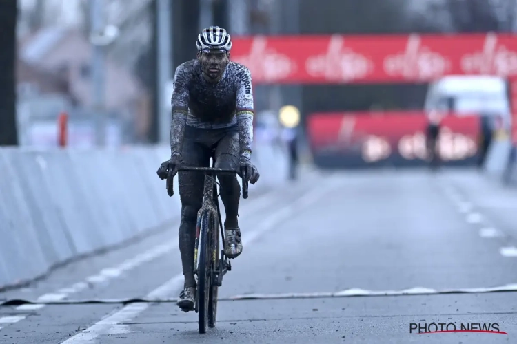
<path id="1" fill-rule="evenodd" d="M 176 68 L 172 93 L 171 153 L 181 153 L 185 125 L 222 129 L 238 125 L 240 156 L 250 159 L 253 143 L 252 78 L 247 67 L 230 61 L 221 80 L 210 83 L 194 59 Z"/>

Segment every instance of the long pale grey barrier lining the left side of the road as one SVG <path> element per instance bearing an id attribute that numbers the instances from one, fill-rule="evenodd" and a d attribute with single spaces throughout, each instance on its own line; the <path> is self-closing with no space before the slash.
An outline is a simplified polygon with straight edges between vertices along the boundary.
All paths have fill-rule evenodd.
<path id="1" fill-rule="evenodd" d="M 250 197 L 285 180 L 285 155 L 261 147 Z M 179 221 L 156 169 L 168 147 L 0 149 L 0 290 L 67 261 L 120 246 Z"/>

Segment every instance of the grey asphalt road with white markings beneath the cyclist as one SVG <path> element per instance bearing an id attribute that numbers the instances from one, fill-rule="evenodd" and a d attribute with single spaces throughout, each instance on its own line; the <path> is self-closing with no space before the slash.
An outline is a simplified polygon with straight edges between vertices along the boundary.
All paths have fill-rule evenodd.
<path id="1" fill-rule="evenodd" d="M 0 307 L 0 343 L 516 343 L 515 192 L 467 170 L 308 173 L 241 201 L 243 254 L 206 334 L 171 301 L 174 226 L 0 294 L 39 302 Z M 134 298 L 153 302 L 114 300 Z M 417 333 L 440 323 L 507 334 Z"/>

